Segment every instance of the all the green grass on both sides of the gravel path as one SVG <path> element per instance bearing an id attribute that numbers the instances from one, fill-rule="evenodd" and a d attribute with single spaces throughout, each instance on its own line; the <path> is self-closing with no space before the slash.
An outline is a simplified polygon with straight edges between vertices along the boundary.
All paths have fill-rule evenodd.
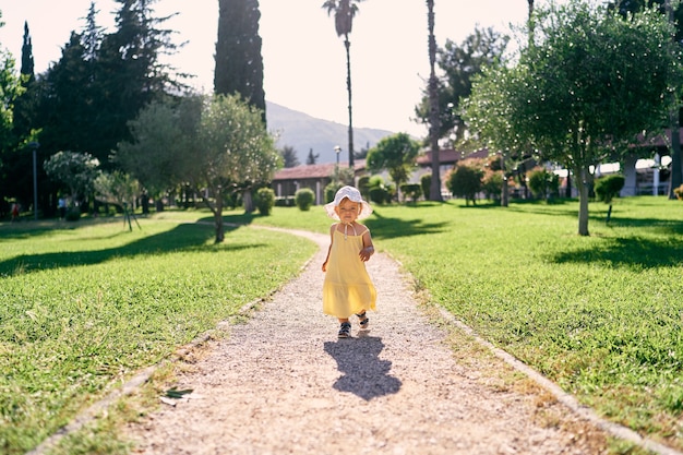
<path id="1" fill-rule="evenodd" d="M 575 201 L 374 208 L 364 223 L 376 248 L 434 303 L 599 414 L 683 448 L 681 202 L 618 200 L 610 225 L 594 203 L 590 237 L 576 235 Z M 215 246 L 201 217 L 209 220 L 158 214 L 132 232 L 119 223 L 0 227 L 0 369 L 12 372 L 0 378 L 4 452 L 33 447 L 131 372 L 266 296 L 314 251 L 245 228 Z M 316 232 L 331 224 L 321 207 L 225 219 Z"/>

